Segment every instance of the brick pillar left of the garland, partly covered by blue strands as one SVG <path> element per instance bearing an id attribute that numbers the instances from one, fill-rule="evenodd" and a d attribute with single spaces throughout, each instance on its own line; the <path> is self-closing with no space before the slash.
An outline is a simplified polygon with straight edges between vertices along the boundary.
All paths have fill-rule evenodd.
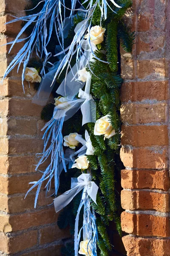
<path id="1" fill-rule="evenodd" d="M 20 22 L 4 23 L 12 15 L 23 15 L 26 0 L 0 1 L 0 45 L 12 41 L 20 31 Z M 9 47 L 0 47 L 0 77 L 18 52 L 21 45 L 7 54 Z M 11 72 L 3 85 L 0 84 L 0 255 L 59 256 L 62 238 L 68 238 L 67 230 L 57 227 L 57 214 L 40 192 L 37 209 L 34 209 L 35 190 L 26 200 L 25 193 L 30 181 L 38 180 L 34 172 L 35 154 L 42 152 L 40 129 L 41 107 L 31 103 L 34 86 L 25 84 L 23 93 L 21 71 Z M 4 253 L 4 254 L 3 254 Z"/>

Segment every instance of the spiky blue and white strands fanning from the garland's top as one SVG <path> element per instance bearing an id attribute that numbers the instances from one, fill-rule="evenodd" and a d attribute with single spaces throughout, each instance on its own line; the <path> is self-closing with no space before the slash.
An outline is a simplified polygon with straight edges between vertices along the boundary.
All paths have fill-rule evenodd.
<path id="1" fill-rule="evenodd" d="M 111 3 L 113 3 L 114 6 L 121 8 L 121 6 L 118 6 L 114 2 L 114 0 L 110 0 L 110 1 Z M 109 8 L 111 8 L 107 0 L 102 0 L 102 1 L 97 0 L 95 3 L 93 3 L 93 0 L 89 0 L 88 6 L 86 9 L 84 9 L 83 6 L 81 6 L 81 8 L 79 9 L 75 9 L 77 0 L 72 0 L 71 9 L 70 9 L 71 22 L 72 22 L 74 12 L 77 12 L 77 11 L 85 12 L 85 19 L 82 21 L 81 27 L 77 30 L 71 45 L 68 48 L 64 49 L 63 28 L 65 23 L 65 9 L 68 9 L 68 8 L 67 6 L 65 6 L 64 0 L 45 0 L 44 2 L 45 2 L 44 6 L 42 7 L 42 10 L 39 13 L 24 16 L 24 17 L 12 16 L 15 19 L 7 23 L 9 24 L 17 21 L 26 21 L 26 24 L 23 26 L 23 28 L 21 29 L 21 31 L 19 32 L 15 40 L 8 43 L 8 44 L 11 44 L 9 53 L 11 52 L 11 49 L 14 47 L 14 44 L 22 42 L 24 40 L 26 40 L 26 43 L 24 44 L 22 49 L 20 49 L 20 51 L 17 53 L 17 55 L 14 57 L 14 59 L 11 61 L 11 63 L 7 67 L 6 72 L 4 73 L 3 79 L 5 79 L 5 77 L 11 72 L 11 70 L 15 66 L 18 65 L 18 69 L 17 69 L 18 71 L 21 64 L 23 64 L 23 73 L 22 73 L 22 83 L 23 83 L 25 70 L 26 70 L 28 61 L 32 56 L 33 51 L 36 52 L 39 58 L 42 58 L 43 55 L 45 55 L 43 68 L 42 68 L 42 74 L 44 74 L 45 64 L 48 62 L 48 59 L 51 57 L 51 52 L 48 52 L 47 46 L 50 42 L 52 31 L 54 28 L 59 41 L 59 45 L 62 49 L 60 54 L 62 53 L 65 54 L 65 57 L 63 58 L 61 64 L 59 65 L 54 79 L 56 79 L 57 75 L 59 74 L 59 71 L 62 72 L 62 70 L 65 68 L 67 64 L 68 64 L 68 68 L 67 68 L 67 72 L 68 72 L 71 58 L 74 55 L 74 53 L 77 52 L 77 59 L 79 59 L 79 54 L 83 54 L 81 43 L 87 30 L 88 32 L 90 32 L 91 20 L 93 18 L 93 14 L 96 7 L 99 6 L 99 9 L 101 11 L 101 19 L 103 16 L 106 19 L 107 7 L 109 6 Z M 82 5 L 85 4 L 86 2 L 87 0 L 84 3 L 82 3 Z M 47 26 L 48 19 L 51 20 L 49 28 Z M 32 23 L 35 24 L 35 26 L 33 31 L 31 32 L 31 35 L 27 38 L 19 39 L 20 36 L 23 35 L 23 33 L 26 31 L 28 26 L 30 26 Z M 59 38 L 59 35 L 61 35 L 62 39 Z M 90 38 L 89 38 L 89 45 L 91 46 Z M 75 46 L 76 46 L 76 49 L 75 49 Z M 93 50 L 92 50 L 92 53 L 95 56 L 95 58 L 97 58 Z M 67 75 L 67 72 L 66 72 L 66 75 Z M 24 84 L 23 84 L 23 90 L 24 90 Z"/>

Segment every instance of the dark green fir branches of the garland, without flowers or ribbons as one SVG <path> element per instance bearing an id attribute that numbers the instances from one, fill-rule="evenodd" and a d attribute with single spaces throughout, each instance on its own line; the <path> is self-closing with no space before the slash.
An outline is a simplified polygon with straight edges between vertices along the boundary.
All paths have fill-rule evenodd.
<path id="1" fill-rule="evenodd" d="M 42 8 L 41 0 L 32 0 L 31 4 L 26 7 L 28 11 L 27 15 L 33 14 L 39 10 L 34 9 L 38 5 L 38 9 Z M 65 2 L 66 6 L 69 6 L 70 1 Z M 91 136 L 92 145 L 95 148 L 95 155 L 88 156 L 92 169 L 92 179 L 99 186 L 99 193 L 97 195 L 97 205 L 92 202 L 93 208 L 96 212 L 96 221 L 99 231 L 98 240 L 98 253 L 100 256 L 108 256 L 109 251 L 112 250 L 112 245 L 108 236 L 108 225 L 110 221 L 116 223 L 116 228 L 121 235 L 121 224 L 120 224 L 120 199 L 116 194 L 116 177 L 119 176 L 121 168 L 121 161 L 119 158 L 120 150 L 120 131 L 121 131 L 121 121 L 120 121 L 120 87 L 123 82 L 118 68 L 118 45 L 122 48 L 131 52 L 134 33 L 130 32 L 130 29 L 125 25 L 122 17 L 125 12 L 128 12 L 132 5 L 131 0 L 117 0 L 116 3 L 122 6 L 121 9 L 116 8 L 111 3 L 111 8 L 116 12 L 113 12 L 108 8 L 108 18 L 107 20 L 102 20 L 102 27 L 106 28 L 106 38 L 104 43 L 101 45 L 101 49 L 98 49 L 95 54 L 99 59 L 103 61 L 108 61 L 109 64 L 98 61 L 94 59 L 87 67 L 87 71 L 91 72 L 91 95 L 94 97 L 96 102 L 96 119 L 101 118 L 109 114 L 110 121 L 113 129 L 115 129 L 116 135 L 110 139 L 103 140 L 102 136 L 94 135 L 94 123 L 89 123 L 82 127 L 82 114 L 78 111 L 72 118 L 68 119 L 64 123 L 63 136 L 68 135 L 73 132 L 77 132 L 84 136 L 85 129 L 88 130 Z M 92 19 L 92 26 L 100 24 L 100 14 L 101 11 L 99 6 L 97 6 L 94 16 Z M 67 17 L 67 16 L 66 16 Z M 74 28 L 82 20 L 81 15 L 77 15 L 74 19 L 74 26 L 69 30 L 68 38 L 65 43 L 65 47 L 71 44 L 74 37 Z M 32 31 L 34 25 L 28 26 L 28 35 Z M 49 26 L 49 24 L 48 24 Z M 57 45 L 56 36 L 51 37 L 51 47 L 50 51 L 52 55 L 55 55 L 55 46 Z M 106 52 L 106 55 L 103 53 Z M 52 63 L 57 61 L 54 57 L 49 60 Z M 72 59 L 72 64 L 75 64 L 75 58 Z M 28 67 L 35 67 L 37 70 L 42 69 L 42 60 L 37 58 L 32 58 L 28 64 Z M 46 67 L 48 68 L 48 67 Z M 57 78 L 56 84 L 53 89 L 54 97 L 57 96 L 55 91 L 57 87 L 65 78 L 65 70 L 63 70 L 61 76 Z M 34 84 L 34 87 L 38 89 L 39 84 Z M 41 118 L 49 121 L 53 116 L 54 104 L 47 104 L 41 113 Z M 69 169 L 68 173 L 62 172 L 60 176 L 60 188 L 59 192 L 65 192 L 70 189 L 71 177 L 78 177 L 81 173 L 79 170 Z M 71 234 L 74 233 L 74 222 L 75 216 L 77 214 L 77 209 L 79 207 L 81 195 L 77 195 L 74 200 L 62 210 L 58 218 L 58 226 L 64 229 L 70 226 Z M 62 248 L 62 254 L 65 256 L 74 256 L 74 244 L 68 243 Z"/>

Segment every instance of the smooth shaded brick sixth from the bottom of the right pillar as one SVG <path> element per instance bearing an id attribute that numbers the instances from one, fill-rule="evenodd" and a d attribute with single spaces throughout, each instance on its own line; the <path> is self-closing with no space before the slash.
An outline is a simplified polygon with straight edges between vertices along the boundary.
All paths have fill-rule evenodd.
<path id="1" fill-rule="evenodd" d="M 168 145 L 167 125 L 122 125 L 122 145 L 152 146 Z"/>

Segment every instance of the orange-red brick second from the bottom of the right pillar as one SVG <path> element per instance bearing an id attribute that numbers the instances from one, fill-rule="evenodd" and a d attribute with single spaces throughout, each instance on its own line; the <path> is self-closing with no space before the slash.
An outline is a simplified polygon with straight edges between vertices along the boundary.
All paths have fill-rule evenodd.
<path id="1" fill-rule="evenodd" d="M 137 236 L 170 236 L 170 218 L 122 212 L 122 230 Z"/>

